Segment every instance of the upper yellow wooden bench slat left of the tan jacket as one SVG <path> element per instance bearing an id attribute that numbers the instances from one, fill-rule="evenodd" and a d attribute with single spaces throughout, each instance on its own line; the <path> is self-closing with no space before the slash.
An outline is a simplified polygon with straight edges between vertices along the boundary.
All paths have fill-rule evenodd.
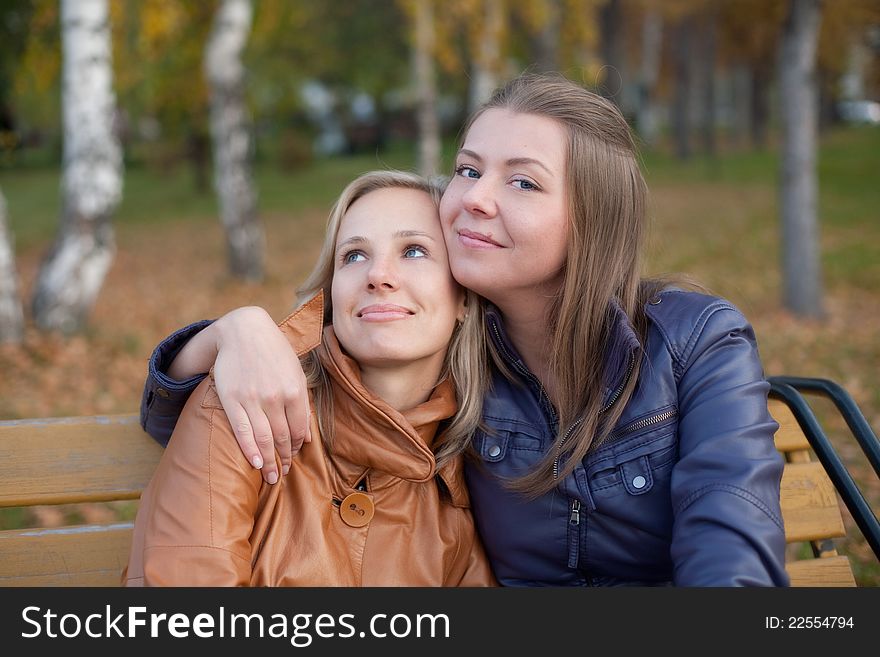
<path id="1" fill-rule="evenodd" d="M 0 422 L 0 507 L 137 499 L 162 451 L 136 415 Z"/>

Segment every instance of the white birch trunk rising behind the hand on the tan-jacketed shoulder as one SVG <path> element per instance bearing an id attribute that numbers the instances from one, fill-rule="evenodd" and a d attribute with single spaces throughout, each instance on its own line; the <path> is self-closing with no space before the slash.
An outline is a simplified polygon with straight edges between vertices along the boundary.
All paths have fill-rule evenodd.
<path id="1" fill-rule="evenodd" d="M 214 186 L 226 231 L 230 273 L 244 280 L 263 278 L 265 237 L 257 219 L 257 195 L 251 175 L 253 137 L 245 106 L 242 51 L 251 30 L 250 0 L 222 0 L 205 49 Z"/>

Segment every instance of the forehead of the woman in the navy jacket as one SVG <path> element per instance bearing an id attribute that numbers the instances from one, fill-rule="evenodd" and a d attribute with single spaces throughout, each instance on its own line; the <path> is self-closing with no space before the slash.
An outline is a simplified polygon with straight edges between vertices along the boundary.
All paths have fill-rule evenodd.
<path id="1" fill-rule="evenodd" d="M 471 124 L 462 148 L 481 157 L 528 157 L 561 165 L 567 142 L 565 129 L 555 119 L 493 108 Z"/>

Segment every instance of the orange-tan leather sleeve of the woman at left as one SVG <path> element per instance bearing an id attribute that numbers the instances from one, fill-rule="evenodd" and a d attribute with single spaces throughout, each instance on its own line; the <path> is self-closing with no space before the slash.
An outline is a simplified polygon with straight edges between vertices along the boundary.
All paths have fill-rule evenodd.
<path id="1" fill-rule="evenodd" d="M 145 491 L 135 522 L 130 584 L 250 583 L 250 540 L 262 480 L 214 402 L 216 392 L 205 381 L 184 408 Z"/>

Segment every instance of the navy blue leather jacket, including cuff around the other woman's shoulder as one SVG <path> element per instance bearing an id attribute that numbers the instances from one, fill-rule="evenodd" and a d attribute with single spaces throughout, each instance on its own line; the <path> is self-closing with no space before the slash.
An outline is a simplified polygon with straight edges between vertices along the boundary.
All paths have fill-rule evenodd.
<path id="1" fill-rule="evenodd" d="M 730 303 L 667 291 L 647 307 L 644 352 L 619 312 L 608 354 L 613 401 L 644 358 L 611 436 L 550 493 L 525 501 L 499 477 L 537 463 L 555 411 L 489 312 L 515 381 L 496 372 L 467 467 L 477 527 L 499 582 L 510 586 L 784 586 L 779 509 L 783 461 L 773 444 L 754 333 Z M 198 378 L 164 376 L 204 323 L 178 331 L 150 360 L 141 420 L 163 444 Z"/>

